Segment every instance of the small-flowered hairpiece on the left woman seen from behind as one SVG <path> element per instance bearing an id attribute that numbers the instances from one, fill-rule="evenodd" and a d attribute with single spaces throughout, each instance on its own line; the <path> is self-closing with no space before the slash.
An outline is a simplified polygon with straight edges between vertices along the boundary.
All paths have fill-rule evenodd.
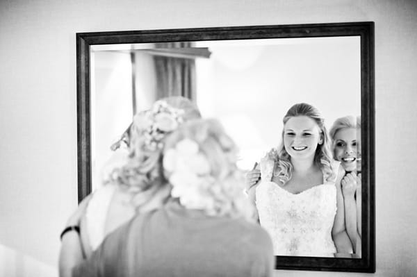
<path id="1" fill-rule="evenodd" d="M 162 149 L 162 140 L 167 133 L 183 123 L 184 110 L 173 108 L 163 100 L 156 101 L 151 110 L 133 117 L 133 128 L 137 128 L 149 151 Z"/>

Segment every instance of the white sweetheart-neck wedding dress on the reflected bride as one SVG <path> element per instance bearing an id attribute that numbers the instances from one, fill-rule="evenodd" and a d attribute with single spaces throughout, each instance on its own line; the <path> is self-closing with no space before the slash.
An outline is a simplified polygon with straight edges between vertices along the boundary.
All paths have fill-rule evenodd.
<path id="1" fill-rule="evenodd" d="M 271 181 L 273 168 L 273 162 L 271 166 L 261 161 L 256 208 L 261 226 L 272 238 L 275 255 L 334 257 L 334 180 L 292 194 Z"/>

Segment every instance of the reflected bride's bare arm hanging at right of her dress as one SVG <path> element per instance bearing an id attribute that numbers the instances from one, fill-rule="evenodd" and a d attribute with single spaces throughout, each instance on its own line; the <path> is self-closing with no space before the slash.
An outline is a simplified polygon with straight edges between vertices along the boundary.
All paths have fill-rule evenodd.
<path id="1" fill-rule="evenodd" d="M 351 254 L 353 253 L 352 243 L 347 235 L 345 228 L 345 207 L 343 201 L 343 194 L 341 190 L 341 179 L 344 175 L 343 169 L 338 171 L 336 178 L 336 216 L 334 217 L 334 224 L 332 229 L 332 237 L 337 253 Z"/>

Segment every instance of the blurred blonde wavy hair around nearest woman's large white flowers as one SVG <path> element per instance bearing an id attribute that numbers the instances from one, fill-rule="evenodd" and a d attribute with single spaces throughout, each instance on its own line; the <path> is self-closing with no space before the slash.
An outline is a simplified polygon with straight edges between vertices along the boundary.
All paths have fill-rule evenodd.
<path id="1" fill-rule="evenodd" d="M 164 159 L 168 158 L 165 155 L 167 151 L 176 149 L 177 145 L 184 141 L 190 142 L 188 144 L 190 146 L 198 146 L 198 153 L 204 157 L 206 161 L 204 164 L 207 165 L 208 172 L 196 173 L 196 182 L 188 182 L 189 178 L 186 176 L 189 176 L 189 172 L 199 171 L 193 169 L 193 163 L 183 163 L 182 167 L 168 169 L 168 167 L 165 167 L 164 161 L 167 180 L 172 181 L 171 177 L 174 174 L 177 173 L 181 176 L 181 173 L 183 173 L 183 178 L 179 178 L 177 182 L 172 182 L 173 187 L 175 188 L 175 185 L 183 187 L 182 194 L 193 191 L 193 196 L 202 199 L 202 201 L 197 201 L 196 205 L 200 207 L 200 210 L 204 210 L 207 215 L 243 217 L 253 220 L 254 205 L 243 193 L 244 174 L 236 165 L 238 148 L 231 137 L 225 133 L 220 122 L 215 119 L 195 119 L 183 124 L 177 131 L 167 137 Z M 181 156 L 181 153 L 178 153 L 178 156 Z M 178 164 L 177 160 L 171 163 Z M 182 181 L 186 181 L 185 187 Z M 198 185 L 198 183 L 203 185 Z M 196 187 L 198 188 L 196 189 Z M 179 196 L 179 202 L 181 203 L 181 196 Z M 201 208 L 201 202 L 209 204 L 203 205 L 204 208 Z M 190 208 L 187 205 L 184 206 Z"/>

